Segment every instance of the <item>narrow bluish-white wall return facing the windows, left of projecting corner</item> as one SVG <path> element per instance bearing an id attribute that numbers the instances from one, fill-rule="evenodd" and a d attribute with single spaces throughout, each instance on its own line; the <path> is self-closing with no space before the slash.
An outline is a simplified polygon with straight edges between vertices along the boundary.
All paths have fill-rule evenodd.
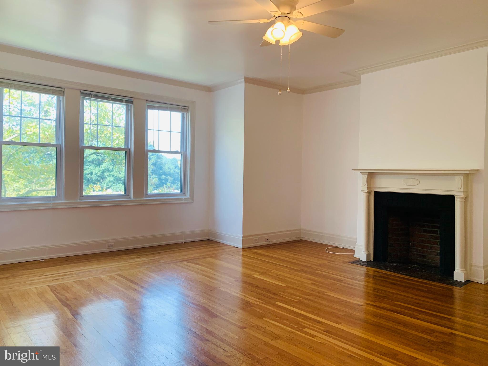
<path id="1" fill-rule="evenodd" d="M 212 93 L 211 141 L 209 227 L 242 237 L 244 83 Z"/>

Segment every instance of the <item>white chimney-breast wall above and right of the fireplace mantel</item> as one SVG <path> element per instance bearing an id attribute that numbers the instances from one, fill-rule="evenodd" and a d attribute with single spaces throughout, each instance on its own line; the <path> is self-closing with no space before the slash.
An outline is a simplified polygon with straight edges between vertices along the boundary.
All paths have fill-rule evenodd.
<path id="1" fill-rule="evenodd" d="M 361 77 L 359 168 L 481 169 L 470 198 L 475 264 L 483 261 L 488 213 L 487 56 L 485 47 Z"/>

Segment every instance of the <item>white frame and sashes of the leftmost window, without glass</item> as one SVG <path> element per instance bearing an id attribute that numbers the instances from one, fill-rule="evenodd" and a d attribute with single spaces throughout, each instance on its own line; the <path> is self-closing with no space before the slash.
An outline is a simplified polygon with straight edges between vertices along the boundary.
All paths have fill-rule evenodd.
<path id="1" fill-rule="evenodd" d="M 13 89 L 56 96 L 56 137 L 55 143 L 3 141 L 3 89 Z M 56 148 L 56 196 L 1 197 L 0 204 L 40 203 L 63 200 L 63 94 L 64 89 L 21 81 L 0 80 L 0 190 L 2 187 L 2 147 L 3 145 L 36 146 Z M 41 106 L 40 106 L 41 107 Z M 40 116 L 41 117 L 41 116 Z M 20 135 L 21 135 L 20 131 Z M 21 139 L 21 138 L 20 138 Z"/>

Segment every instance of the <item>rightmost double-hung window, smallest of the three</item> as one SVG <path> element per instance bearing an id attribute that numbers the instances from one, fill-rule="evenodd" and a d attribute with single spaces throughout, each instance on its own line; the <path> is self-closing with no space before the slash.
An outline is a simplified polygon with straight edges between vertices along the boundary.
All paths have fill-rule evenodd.
<path id="1" fill-rule="evenodd" d="M 147 102 L 145 197 L 188 195 L 188 107 Z"/>

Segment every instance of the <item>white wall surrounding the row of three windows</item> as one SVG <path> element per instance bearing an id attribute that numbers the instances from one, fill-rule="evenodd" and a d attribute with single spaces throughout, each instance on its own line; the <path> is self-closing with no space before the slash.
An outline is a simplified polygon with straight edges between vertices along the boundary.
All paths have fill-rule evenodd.
<path id="1" fill-rule="evenodd" d="M 208 229 L 210 93 L 8 53 L 0 69 L 196 102 L 194 203 L 4 211 L 0 250 Z"/>

